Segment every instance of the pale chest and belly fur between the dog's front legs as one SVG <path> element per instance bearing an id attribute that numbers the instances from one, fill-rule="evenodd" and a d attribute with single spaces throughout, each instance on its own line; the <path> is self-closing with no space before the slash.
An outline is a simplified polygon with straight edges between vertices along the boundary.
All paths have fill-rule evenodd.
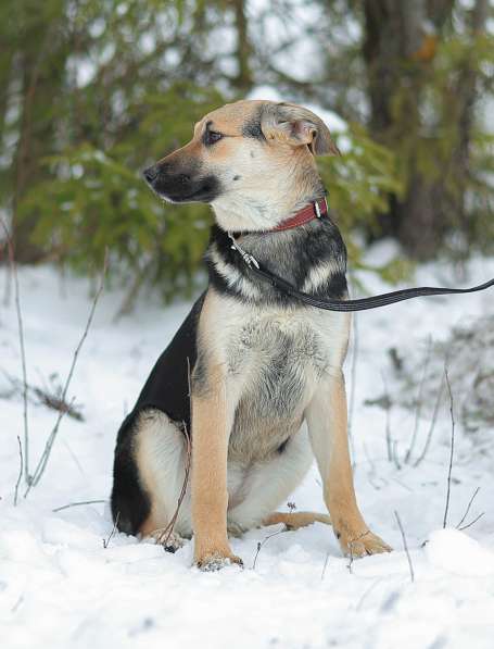
<path id="1" fill-rule="evenodd" d="M 230 450 L 244 458 L 249 448 L 268 453 L 300 428 L 324 374 L 341 367 L 350 316 L 305 307 L 254 307 L 217 295 L 214 300 L 215 355 L 226 367 L 227 389 L 238 399 Z"/>

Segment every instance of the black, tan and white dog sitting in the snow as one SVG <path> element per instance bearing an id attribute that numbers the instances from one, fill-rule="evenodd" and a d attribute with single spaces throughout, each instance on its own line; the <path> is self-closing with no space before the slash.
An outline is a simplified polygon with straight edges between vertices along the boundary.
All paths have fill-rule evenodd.
<path id="1" fill-rule="evenodd" d="M 193 534 L 203 570 L 242 563 L 228 534 L 276 523 L 330 524 L 351 557 L 391 550 L 365 523 L 353 486 L 342 371 L 350 315 L 301 304 L 244 259 L 313 296 L 347 298 L 346 249 L 316 166 L 317 155 L 338 153 L 312 111 L 244 100 L 205 115 L 189 143 L 143 172 L 165 201 L 211 204 L 215 225 L 207 289 L 118 432 L 112 513 L 127 534 L 165 542 L 168 531 L 170 550 Z M 278 512 L 314 457 L 329 516 Z"/>

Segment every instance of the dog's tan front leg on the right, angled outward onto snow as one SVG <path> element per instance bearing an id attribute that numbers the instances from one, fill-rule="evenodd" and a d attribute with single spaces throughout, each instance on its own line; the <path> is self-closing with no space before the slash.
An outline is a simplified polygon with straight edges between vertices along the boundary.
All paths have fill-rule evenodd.
<path id="1" fill-rule="evenodd" d="M 350 462 L 346 395 L 343 372 L 331 367 L 318 386 L 306 420 L 324 484 L 334 534 L 346 556 L 363 557 L 391 548 L 372 534 L 357 506 Z"/>

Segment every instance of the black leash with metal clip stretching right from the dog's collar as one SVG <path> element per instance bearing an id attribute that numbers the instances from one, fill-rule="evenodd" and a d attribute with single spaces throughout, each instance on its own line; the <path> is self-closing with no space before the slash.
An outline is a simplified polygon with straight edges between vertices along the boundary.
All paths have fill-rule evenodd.
<path id="1" fill-rule="evenodd" d="M 230 237 L 232 242 L 231 248 L 239 252 L 248 267 L 256 277 L 259 277 L 264 282 L 269 283 L 275 288 L 282 290 L 287 295 L 300 300 L 301 302 L 304 302 L 305 304 L 316 307 L 317 309 L 326 309 L 327 311 L 367 311 L 368 309 L 378 309 L 379 307 L 387 307 L 388 304 L 403 302 L 404 300 L 411 300 L 413 298 L 421 298 L 426 296 L 465 295 L 469 292 L 478 292 L 480 290 L 485 290 L 486 288 L 491 288 L 494 286 L 494 279 L 491 279 L 485 284 L 480 284 L 479 286 L 473 286 L 472 288 L 443 288 L 421 286 L 419 288 L 403 288 L 401 290 L 393 290 L 391 292 L 385 292 L 380 296 L 372 296 L 370 298 L 362 298 L 358 300 L 320 300 L 305 292 L 296 290 L 294 286 L 292 286 L 282 277 L 279 277 L 270 271 L 263 269 L 259 262 L 252 254 L 245 252 L 245 250 L 243 250 L 243 248 L 241 248 L 239 244 L 237 244 L 237 241 L 231 235 L 228 236 Z"/>

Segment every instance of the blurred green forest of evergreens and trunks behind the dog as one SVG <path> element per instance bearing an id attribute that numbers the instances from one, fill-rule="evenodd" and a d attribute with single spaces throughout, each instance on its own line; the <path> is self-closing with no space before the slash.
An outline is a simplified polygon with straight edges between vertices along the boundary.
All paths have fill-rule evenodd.
<path id="1" fill-rule="evenodd" d="M 494 241 L 489 0 L 2 0 L 0 42 L 0 210 L 20 263 L 91 276 L 107 247 L 128 304 L 143 286 L 190 292 L 210 209 L 164 207 L 140 170 L 262 88 L 338 115 L 344 155 L 320 169 L 355 265 L 380 237 L 411 260 Z"/>

